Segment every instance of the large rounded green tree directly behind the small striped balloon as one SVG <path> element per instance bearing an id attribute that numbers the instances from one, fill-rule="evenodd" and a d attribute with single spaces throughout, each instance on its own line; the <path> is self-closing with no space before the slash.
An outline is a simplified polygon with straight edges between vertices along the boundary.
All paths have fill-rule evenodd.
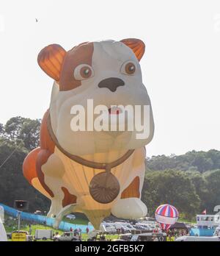
<path id="1" fill-rule="evenodd" d="M 177 207 L 186 218 L 199 210 L 200 199 L 185 172 L 175 170 L 149 171 L 144 180 L 142 199 L 152 216 L 161 204 Z"/>

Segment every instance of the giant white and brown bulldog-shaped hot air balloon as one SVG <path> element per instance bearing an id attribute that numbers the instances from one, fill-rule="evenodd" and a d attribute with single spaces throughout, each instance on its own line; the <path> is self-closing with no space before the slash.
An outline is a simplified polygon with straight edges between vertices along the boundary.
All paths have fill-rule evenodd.
<path id="1" fill-rule="evenodd" d="M 54 227 L 73 212 L 85 213 L 96 229 L 111 213 L 147 214 L 140 199 L 144 145 L 154 124 L 139 65 L 144 47 L 131 38 L 40 51 L 38 64 L 54 85 L 40 147 L 24 160 L 23 174 L 51 199 Z"/>

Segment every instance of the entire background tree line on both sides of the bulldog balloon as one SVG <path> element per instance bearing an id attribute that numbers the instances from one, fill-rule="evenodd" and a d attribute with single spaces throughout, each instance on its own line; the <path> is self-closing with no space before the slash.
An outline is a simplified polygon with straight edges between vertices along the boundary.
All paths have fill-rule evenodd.
<path id="1" fill-rule="evenodd" d="M 0 202 L 13 206 L 15 199 L 29 201 L 29 210 L 48 210 L 50 202 L 23 177 L 26 154 L 39 145 L 40 119 L 14 117 L 0 124 Z M 184 218 L 220 205 L 220 152 L 191 151 L 176 156 L 146 159 L 142 199 L 153 216 L 158 205 L 177 207 Z"/>

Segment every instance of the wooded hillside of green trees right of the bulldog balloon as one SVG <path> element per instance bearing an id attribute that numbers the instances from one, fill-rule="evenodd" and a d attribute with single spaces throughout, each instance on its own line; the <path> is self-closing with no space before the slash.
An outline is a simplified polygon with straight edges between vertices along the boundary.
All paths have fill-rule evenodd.
<path id="1" fill-rule="evenodd" d="M 216 149 L 148 157 L 146 169 L 142 199 L 150 215 L 164 203 L 174 205 L 188 219 L 205 209 L 213 214 L 220 205 L 220 152 Z"/>

